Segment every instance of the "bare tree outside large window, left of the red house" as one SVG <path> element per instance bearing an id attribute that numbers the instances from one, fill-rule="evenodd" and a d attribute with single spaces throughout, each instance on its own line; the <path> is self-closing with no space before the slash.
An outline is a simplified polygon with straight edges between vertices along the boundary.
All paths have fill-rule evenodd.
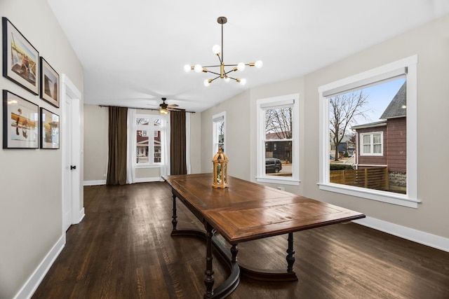
<path id="1" fill-rule="evenodd" d="M 329 99 L 329 130 L 330 139 L 335 144 L 335 161 L 338 161 L 338 146 L 349 125 L 354 122 L 355 117 L 365 118 L 368 110 L 363 110 L 363 106 L 368 103 L 368 95 L 363 94 L 363 90 L 348 92 L 343 95 L 336 95 Z"/>

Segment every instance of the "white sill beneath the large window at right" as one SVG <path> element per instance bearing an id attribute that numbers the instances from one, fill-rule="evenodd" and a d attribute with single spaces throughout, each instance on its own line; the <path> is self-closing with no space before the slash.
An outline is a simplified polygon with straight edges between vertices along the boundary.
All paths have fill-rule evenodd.
<path id="1" fill-rule="evenodd" d="M 397 204 L 399 206 L 415 209 L 417 209 L 418 204 L 421 203 L 420 200 L 410 198 L 408 195 L 353 186 L 344 186 L 337 183 L 319 183 L 319 188 L 320 190 L 361 197 L 367 200 L 376 200 L 378 202 L 387 202 L 389 204 Z"/>

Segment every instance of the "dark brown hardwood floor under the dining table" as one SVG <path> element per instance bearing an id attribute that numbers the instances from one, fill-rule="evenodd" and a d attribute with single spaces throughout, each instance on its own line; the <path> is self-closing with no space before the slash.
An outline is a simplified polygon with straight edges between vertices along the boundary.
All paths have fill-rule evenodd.
<path id="1" fill-rule="evenodd" d="M 32 298 L 202 298 L 203 240 L 170 237 L 166 183 L 84 188 L 86 217 Z M 202 225 L 177 205 L 178 228 Z M 295 232 L 294 282 L 242 277 L 229 298 L 449 298 L 449 253 L 355 223 Z M 239 261 L 286 267 L 287 236 L 239 244 Z M 215 286 L 227 267 L 214 258 Z"/>

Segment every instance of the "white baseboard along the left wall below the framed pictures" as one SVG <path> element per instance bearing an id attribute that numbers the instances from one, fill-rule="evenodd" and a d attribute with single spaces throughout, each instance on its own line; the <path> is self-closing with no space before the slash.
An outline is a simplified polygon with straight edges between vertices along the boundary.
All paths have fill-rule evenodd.
<path id="1" fill-rule="evenodd" d="M 33 293 L 36 291 L 43 277 L 47 274 L 51 265 L 55 262 L 56 258 L 58 258 L 59 253 L 65 246 L 65 232 L 62 233 L 62 236 L 58 239 L 53 248 L 48 251 L 47 255 L 39 266 L 36 267 L 33 274 L 29 277 L 27 282 L 20 288 L 20 291 L 14 296 L 14 299 L 29 299 L 32 297 Z"/>

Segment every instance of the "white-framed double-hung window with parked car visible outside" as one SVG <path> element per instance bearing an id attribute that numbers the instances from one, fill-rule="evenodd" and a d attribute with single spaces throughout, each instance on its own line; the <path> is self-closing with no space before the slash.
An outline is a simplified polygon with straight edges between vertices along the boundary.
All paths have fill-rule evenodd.
<path id="1" fill-rule="evenodd" d="M 299 185 L 299 95 L 257 100 L 257 181 Z"/>

